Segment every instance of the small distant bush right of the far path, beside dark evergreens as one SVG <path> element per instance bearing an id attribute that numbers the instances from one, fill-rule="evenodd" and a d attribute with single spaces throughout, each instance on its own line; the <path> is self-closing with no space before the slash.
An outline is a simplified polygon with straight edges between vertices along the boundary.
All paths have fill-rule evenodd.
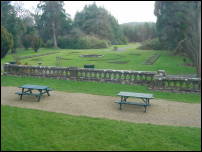
<path id="1" fill-rule="evenodd" d="M 142 43 L 142 45 L 138 48 L 142 50 L 161 50 L 162 45 L 158 38 L 146 40 Z"/>

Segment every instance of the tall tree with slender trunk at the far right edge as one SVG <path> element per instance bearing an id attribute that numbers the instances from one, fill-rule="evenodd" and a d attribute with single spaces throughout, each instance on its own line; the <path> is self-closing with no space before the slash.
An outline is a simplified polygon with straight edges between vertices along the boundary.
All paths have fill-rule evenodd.
<path id="1" fill-rule="evenodd" d="M 187 24 L 185 37 L 180 43 L 181 48 L 196 67 L 201 76 L 201 2 L 190 3 L 190 11 L 186 14 Z"/>

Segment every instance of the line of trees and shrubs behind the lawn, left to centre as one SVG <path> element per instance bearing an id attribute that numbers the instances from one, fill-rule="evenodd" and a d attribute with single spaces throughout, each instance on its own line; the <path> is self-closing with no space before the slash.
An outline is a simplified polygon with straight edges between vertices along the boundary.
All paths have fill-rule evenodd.
<path id="1" fill-rule="evenodd" d="M 127 44 L 118 21 L 106 9 L 95 3 L 86 5 L 72 20 L 63 7 L 63 1 L 40 1 L 37 11 L 31 13 L 11 1 L 1 1 L 1 30 L 12 35 L 12 53 L 18 47 L 37 51 L 40 46 L 105 48 Z"/>

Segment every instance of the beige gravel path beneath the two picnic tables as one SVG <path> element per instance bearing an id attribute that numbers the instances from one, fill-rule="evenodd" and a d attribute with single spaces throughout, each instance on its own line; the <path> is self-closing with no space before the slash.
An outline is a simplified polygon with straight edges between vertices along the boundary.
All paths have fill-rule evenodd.
<path id="1" fill-rule="evenodd" d="M 123 105 L 119 110 L 119 105 L 114 103 L 119 100 L 118 96 L 52 91 L 51 96 L 44 95 L 37 102 L 36 97 L 32 96 L 23 96 L 20 100 L 16 91 L 19 91 L 17 87 L 1 87 L 1 104 L 136 123 L 201 128 L 201 104 L 153 99 L 150 102 L 152 105 L 144 113 L 144 107 L 135 105 Z"/>

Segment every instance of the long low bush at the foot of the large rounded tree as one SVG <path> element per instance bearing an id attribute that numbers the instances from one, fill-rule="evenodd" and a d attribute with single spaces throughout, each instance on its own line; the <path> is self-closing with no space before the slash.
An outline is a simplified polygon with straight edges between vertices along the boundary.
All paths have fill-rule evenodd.
<path id="1" fill-rule="evenodd" d="M 58 46 L 66 49 L 99 49 L 109 47 L 107 40 L 101 40 L 95 36 L 82 36 L 82 37 L 59 37 Z"/>

